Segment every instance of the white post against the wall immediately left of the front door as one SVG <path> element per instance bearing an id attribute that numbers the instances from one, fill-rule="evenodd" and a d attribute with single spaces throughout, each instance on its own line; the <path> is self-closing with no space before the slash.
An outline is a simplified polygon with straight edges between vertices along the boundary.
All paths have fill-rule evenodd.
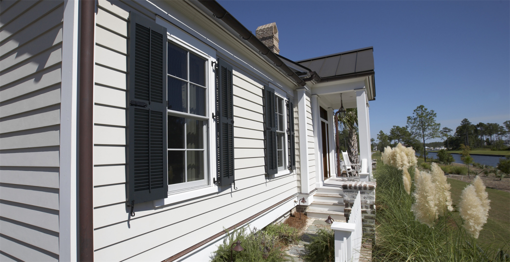
<path id="1" fill-rule="evenodd" d="M 321 186 L 321 181 L 324 177 L 322 170 L 322 139 L 320 130 L 320 116 L 319 116 L 319 96 L 312 95 L 310 97 L 310 106 L 312 107 L 312 123 L 314 128 L 314 152 L 315 152 L 315 187 Z"/>

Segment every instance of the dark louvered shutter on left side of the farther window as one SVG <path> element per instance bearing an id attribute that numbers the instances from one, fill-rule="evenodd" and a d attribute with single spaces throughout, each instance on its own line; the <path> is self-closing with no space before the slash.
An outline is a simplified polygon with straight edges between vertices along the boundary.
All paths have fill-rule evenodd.
<path id="1" fill-rule="evenodd" d="M 276 97 L 274 89 L 264 86 L 264 138 L 266 153 L 266 174 L 278 172 L 276 153 Z"/>

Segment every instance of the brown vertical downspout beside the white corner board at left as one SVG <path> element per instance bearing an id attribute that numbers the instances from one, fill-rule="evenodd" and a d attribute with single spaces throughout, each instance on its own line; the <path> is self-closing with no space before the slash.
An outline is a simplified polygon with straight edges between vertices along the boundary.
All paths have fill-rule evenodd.
<path id="1" fill-rule="evenodd" d="M 95 1 L 80 1 L 80 75 L 78 113 L 78 223 L 79 261 L 94 260 L 92 202 L 92 131 L 94 106 L 94 15 Z"/>

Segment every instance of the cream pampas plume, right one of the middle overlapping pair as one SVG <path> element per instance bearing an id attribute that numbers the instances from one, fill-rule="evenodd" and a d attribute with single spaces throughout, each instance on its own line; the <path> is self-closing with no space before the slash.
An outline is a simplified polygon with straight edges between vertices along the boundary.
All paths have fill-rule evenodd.
<path id="1" fill-rule="evenodd" d="M 436 209 L 439 216 L 443 216 L 448 211 L 453 211 L 451 206 L 450 184 L 446 181 L 445 173 L 438 164 L 432 163 L 430 168 L 432 175 L 432 184 L 436 191 Z"/>

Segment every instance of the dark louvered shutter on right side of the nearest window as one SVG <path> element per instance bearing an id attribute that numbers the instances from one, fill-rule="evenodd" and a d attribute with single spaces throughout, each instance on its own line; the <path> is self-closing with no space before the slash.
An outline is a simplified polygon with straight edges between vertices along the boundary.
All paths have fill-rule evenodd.
<path id="1" fill-rule="evenodd" d="M 234 92 L 232 66 L 218 59 L 216 73 L 217 180 L 220 186 L 234 183 Z"/>

